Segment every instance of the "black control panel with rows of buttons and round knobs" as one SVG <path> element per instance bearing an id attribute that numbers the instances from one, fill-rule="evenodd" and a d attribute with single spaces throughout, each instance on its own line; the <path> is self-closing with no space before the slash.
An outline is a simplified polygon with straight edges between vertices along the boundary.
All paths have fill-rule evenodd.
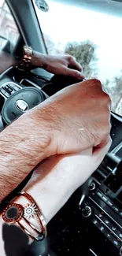
<path id="1" fill-rule="evenodd" d="M 102 170 L 103 163 L 98 168 L 103 178 L 97 176 L 97 171 L 91 178 L 87 197 L 81 205 L 79 203 L 79 210 L 82 221 L 87 218 L 86 228 L 102 233 L 103 246 L 110 243 L 115 249 L 112 255 L 122 255 L 122 161 L 114 163 L 113 167 L 107 162 L 108 171 Z"/>

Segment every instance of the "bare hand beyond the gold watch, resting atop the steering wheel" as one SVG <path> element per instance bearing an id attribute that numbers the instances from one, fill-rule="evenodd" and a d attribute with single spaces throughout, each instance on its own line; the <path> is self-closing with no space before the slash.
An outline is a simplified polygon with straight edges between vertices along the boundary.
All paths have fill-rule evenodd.
<path id="1" fill-rule="evenodd" d="M 32 65 L 55 75 L 72 76 L 78 80 L 84 78 L 81 65 L 76 58 L 69 55 L 46 55 L 35 52 Z"/>

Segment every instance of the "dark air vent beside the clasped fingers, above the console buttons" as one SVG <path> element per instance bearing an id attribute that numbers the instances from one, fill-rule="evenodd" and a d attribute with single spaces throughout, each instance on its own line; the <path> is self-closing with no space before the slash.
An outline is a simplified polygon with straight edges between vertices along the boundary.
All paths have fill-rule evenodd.
<path id="1" fill-rule="evenodd" d="M 109 158 L 109 156 L 105 156 L 102 164 L 99 165 L 98 169 L 94 173 L 94 179 L 98 181 L 98 184 L 101 184 L 102 181 L 105 180 L 107 176 L 109 176 L 109 173 L 111 173 L 115 167 L 116 161 L 114 161 L 112 158 Z"/>

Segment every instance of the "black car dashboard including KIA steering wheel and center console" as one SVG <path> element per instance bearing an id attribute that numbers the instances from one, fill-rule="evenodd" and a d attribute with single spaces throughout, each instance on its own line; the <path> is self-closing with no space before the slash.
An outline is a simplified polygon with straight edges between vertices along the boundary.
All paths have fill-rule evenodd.
<path id="1" fill-rule="evenodd" d="M 0 131 L 62 84 L 76 83 L 63 79 L 54 77 L 49 82 L 24 77 L 13 68 L 4 72 L 0 76 Z M 113 143 L 102 164 L 48 224 L 52 255 L 122 255 L 122 119 L 112 113 L 111 122 Z"/>

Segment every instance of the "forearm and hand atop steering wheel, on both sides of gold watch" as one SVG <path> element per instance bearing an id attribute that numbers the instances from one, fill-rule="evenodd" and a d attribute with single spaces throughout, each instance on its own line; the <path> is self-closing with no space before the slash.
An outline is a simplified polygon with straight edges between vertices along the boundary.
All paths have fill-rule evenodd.
<path id="1" fill-rule="evenodd" d="M 11 54 L 0 53 L 0 73 L 9 69 L 11 66 L 19 65 L 21 62 L 13 58 Z M 78 80 L 83 80 L 82 67 L 76 58 L 69 55 L 47 55 L 33 52 L 31 69 L 41 68 L 46 71 L 64 76 L 71 76 Z"/>

